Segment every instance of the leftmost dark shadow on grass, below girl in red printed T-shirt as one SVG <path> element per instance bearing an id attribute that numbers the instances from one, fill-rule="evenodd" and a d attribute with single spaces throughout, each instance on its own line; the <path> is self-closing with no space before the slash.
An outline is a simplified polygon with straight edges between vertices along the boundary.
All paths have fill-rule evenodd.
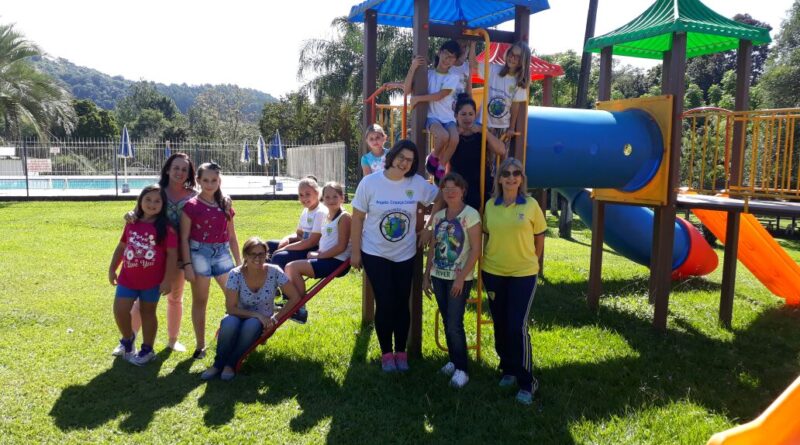
<path id="1" fill-rule="evenodd" d="M 170 374 L 159 377 L 161 365 L 169 355 L 169 349 L 165 349 L 155 362 L 141 368 L 117 358 L 110 369 L 86 385 L 65 388 L 50 416 L 58 428 L 67 431 L 97 428 L 119 416 L 124 417 L 122 431 L 144 431 L 156 411 L 177 405 L 200 384 L 195 375 L 189 374 L 192 359 L 178 363 Z"/>

